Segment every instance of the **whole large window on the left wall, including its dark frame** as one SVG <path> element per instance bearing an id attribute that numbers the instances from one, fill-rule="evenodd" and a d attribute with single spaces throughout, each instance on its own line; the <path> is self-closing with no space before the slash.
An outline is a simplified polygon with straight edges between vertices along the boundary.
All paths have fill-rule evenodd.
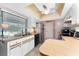
<path id="1" fill-rule="evenodd" d="M 27 34 L 27 19 L 0 10 L 0 37 L 20 37 Z"/>

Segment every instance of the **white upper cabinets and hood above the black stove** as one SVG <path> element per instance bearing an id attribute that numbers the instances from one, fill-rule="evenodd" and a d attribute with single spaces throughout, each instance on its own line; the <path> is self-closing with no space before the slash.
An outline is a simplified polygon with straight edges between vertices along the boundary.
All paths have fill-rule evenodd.
<path id="1" fill-rule="evenodd" d="M 76 24 L 79 24 L 78 16 L 78 6 L 76 4 L 73 4 L 70 10 L 68 11 L 66 15 L 66 22 L 71 23 L 71 27 L 75 27 Z M 68 25 L 69 26 L 69 25 Z"/>

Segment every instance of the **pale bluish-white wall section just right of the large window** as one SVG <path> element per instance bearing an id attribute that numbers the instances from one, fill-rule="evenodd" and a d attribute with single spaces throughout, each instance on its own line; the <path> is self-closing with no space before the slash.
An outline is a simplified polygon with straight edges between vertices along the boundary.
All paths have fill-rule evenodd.
<path id="1" fill-rule="evenodd" d="M 36 27 L 36 32 L 37 33 L 40 33 L 40 24 L 36 24 L 36 23 L 39 23 L 39 20 L 36 19 L 35 17 L 28 17 L 28 20 L 27 20 L 27 31 L 30 32 L 30 29 L 32 29 L 32 27 Z"/>

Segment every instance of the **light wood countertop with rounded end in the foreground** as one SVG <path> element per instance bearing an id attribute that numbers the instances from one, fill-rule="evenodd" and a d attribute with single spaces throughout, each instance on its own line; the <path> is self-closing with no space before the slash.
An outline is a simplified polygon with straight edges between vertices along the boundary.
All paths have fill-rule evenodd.
<path id="1" fill-rule="evenodd" d="M 79 56 L 79 40 L 73 37 L 63 39 L 47 39 L 39 48 L 40 53 L 48 56 Z"/>

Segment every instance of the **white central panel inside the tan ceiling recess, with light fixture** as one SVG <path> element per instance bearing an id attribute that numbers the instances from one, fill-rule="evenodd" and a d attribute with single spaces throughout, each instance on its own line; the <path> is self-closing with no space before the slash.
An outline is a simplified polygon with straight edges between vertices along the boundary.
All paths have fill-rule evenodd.
<path id="1" fill-rule="evenodd" d="M 35 6 L 41 12 L 44 12 L 46 10 L 48 11 L 48 14 L 55 12 L 55 4 L 52 3 L 36 3 Z"/>

